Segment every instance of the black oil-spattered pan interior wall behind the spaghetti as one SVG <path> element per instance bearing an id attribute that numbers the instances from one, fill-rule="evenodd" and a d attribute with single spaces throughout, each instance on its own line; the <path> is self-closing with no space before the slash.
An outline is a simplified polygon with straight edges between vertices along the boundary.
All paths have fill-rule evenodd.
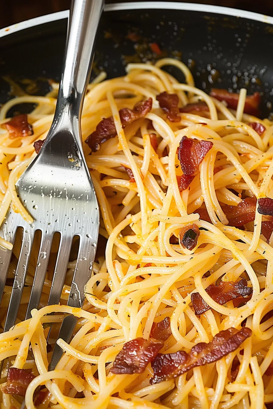
<path id="1" fill-rule="evenodd" d="M 47 79 L 59 80 L 66 26 L 66 19 L 57 20 L 0 38 L 0 103 L 13 96 L 7 78 L 30 94 L 47 92 Z M 160 47 L 160 56 L 152 43 Z M 92 77 L 101 70 L 108 78 L 123 75 L 128 62 L 180 58 L 191 68 L 196 86 L 206 92 L 212 87 L 261 92 L 262 116 L 268 117 L 273 111 L 272 55 L 273 26 L 266 22 L 199 11 L 107 11 L 99 27 Z M 176 69 L 166 69 L 183 81 Z"/>

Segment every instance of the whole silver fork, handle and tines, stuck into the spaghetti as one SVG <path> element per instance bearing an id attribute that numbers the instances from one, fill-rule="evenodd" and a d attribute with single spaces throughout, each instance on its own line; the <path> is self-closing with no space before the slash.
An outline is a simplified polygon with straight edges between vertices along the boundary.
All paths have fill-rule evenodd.
<path id="1" fill-rule="evenodd" d="M 1 236 L 11 243 L 14 243 L 18 227 L 23 228 L 4 331 L 14 326 L 16 321 L 36 230 L 41 230 L 41 244 L 25 318 L 30 318 L 31 310 L 38 308 L 55 232 L 61 234 L 61 241 L 48 305 L 59 303 L 74 236 L 79 236 L 79 252 L 68 305 L 80 308 L 83 304 L 84 286 L 90 278 L 95 259 L 99 209 L 83 155 L 80 118 L 103 5 L 103 0 L 72 1 L 63 74 L 52 126 L 40 153 L 16 182 L 19 199 L 34 222 L 29 225 L 20 213 L 9 209 L 1 227 Z M 0 299 L 11 253 L 11 250 L 0 250 Z M 74 316 L 66 316 L 58 337 L 69 342 L 76 322 Z M 62 353 L 56 345 L 50 370 L 59 362 Z"/>

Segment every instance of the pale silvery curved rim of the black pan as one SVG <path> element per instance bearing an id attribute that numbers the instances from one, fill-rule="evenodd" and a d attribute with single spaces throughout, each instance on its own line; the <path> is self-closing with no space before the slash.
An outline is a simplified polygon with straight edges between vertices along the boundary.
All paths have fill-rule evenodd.
<path id="1" fill-rule="evenodd" d="M 197 9 L 198 8 L 198 9 Z M 240 9 L 233 9 L 232 7 L 214 6 L 210 4 L 198 4 L 198 3 L 180 3 L 180 2 L 130 2 L 130 3 L 113 3 L 106 4 L 104 11 L 122 11 L 122 10 L 145 10 L 145 9 L 169 9 L 169 10 L 185 10 L 196 11 L 203 13 L 215 13 L 223 14 L 226 16 L 247 18 L 248 20 L 260 21 L 270 25 L 273 25 L 273 17 L 266 16 L 265 14 L 254 13 L 253 11 L 246 11 Z M 45 16 L 39 16 L 25 20 L 9 27 L 0 29 L 0 38 L 13 34 L 17 31 L 35 27 L 36 25 L 45 24 L 47 22 L 63 20 L 68 18 L 69 10 L 57 11 L 56 13 L 45 14 Z"/>

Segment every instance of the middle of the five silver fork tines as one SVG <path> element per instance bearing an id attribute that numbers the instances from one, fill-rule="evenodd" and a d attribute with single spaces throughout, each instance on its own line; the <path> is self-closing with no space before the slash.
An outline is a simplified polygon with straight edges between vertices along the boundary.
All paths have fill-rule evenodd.
<path id="1" fill-rule="evenodd" d="M 43 234 L 43 232 L 42 232 Z M 45 274 L 47 272 L 47 266 L 49 262 L 50 249 L 52 245 L 52 235 L 45 234 L 42 236 L 38 261 L 35 269 L 35 275 L 32 285 L 32 290 L 29 298 L 29 304 L 27 306 L 27 313 L 25 319 L 31 318 L 31 310 L 38 308 L 43 285 L 45 282 Z"/>

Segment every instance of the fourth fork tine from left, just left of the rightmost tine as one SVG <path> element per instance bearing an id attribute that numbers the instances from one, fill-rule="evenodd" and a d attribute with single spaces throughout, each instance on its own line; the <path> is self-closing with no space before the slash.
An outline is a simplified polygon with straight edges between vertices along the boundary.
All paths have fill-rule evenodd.
<path id="1" fill-rule="evenodd" d="M 72 240 L 73 240 L 72 236 L 69 237 L 61 235 L 60 247 L 52 279 L 48 305 L 58 304 L 60 301 L 70 256 L 70 249 L 72 246 Z"/>

